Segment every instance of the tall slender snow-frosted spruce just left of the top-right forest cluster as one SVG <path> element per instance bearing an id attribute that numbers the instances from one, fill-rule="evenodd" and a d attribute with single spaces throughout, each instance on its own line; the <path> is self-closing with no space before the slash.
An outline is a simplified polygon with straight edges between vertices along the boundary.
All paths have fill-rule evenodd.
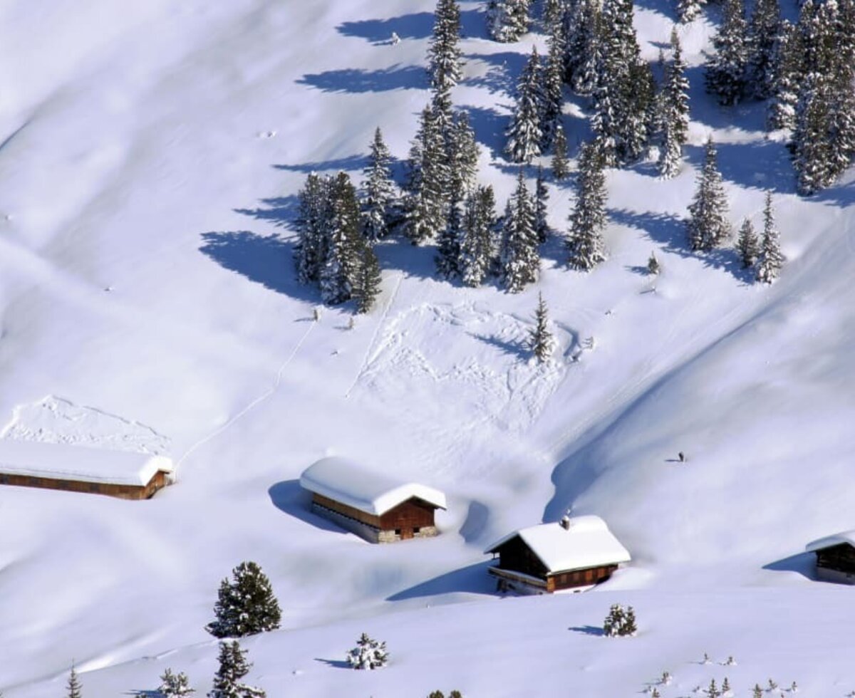
<path id="1" fill-rule="evenodd" d="M 675 177 L 680 172 L 683 145 L 686 144 L 689 128 L 689 81 L 676 29 L 671 31 L 671 49 L 673 58 L 665 73 L 660 100 L 662 148 L 659 150 L 659 174 L 665 179 Z"/>

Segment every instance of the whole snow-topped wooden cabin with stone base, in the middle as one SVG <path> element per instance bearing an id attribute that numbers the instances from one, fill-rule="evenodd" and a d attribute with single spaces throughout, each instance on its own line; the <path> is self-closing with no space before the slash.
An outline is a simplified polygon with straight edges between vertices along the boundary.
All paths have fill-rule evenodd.
<path id="1" fill-rule="evenodd" d="M 300 476 L 300 485 L 312 493 L 312 511 L 369 543 L 436 536 L 433 514 L 445 509 L 439 490 L 402 483 L 344 458 L 318 460 Z"/>

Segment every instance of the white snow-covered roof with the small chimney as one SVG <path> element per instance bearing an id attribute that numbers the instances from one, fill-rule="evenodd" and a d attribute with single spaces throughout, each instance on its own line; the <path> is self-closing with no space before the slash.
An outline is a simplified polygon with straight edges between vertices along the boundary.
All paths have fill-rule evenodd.
<path id="1" fill-rule="evenodd" d="M 522 542 L 538 556 L 549 572 L 614 565 L 632 559 L 627 548 L 621 545 L 605 521 L 598 516 L 576 516 L 569 519 L 567 528 L 559 523 L 523 528 L 493 543 L 485 552 L 495 552 L 499 546 L 517 536 L 522 538 Z"/>

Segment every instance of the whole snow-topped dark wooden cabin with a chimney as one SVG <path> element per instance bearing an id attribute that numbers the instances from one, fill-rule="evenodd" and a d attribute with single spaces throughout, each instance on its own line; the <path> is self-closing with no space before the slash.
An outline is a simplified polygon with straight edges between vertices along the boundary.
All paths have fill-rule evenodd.
<path id="1" fill-rule="evenodd" d="M 498 555 L 488 572 L 498 589 L 545 594 L 581 591 L 610 578 L 631 558 L 598 516 L 565 516 L 561 521 L 514 531 L 485 551 Z"/>

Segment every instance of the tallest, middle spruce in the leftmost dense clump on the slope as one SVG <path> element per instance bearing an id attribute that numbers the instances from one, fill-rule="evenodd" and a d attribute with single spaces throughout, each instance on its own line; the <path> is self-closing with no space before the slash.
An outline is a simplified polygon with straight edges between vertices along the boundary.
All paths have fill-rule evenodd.
<path id="1" fill-rule="evenodd" d="M 357 190 L 347 173 L 339 172 L 333 178 L 330 197 L 327 255 L 319 281 L 321 299 L 334 305 L 349 300 L 353 295 L 359 271 L 359 253 L 365 238 L 360 230 Z"/>

